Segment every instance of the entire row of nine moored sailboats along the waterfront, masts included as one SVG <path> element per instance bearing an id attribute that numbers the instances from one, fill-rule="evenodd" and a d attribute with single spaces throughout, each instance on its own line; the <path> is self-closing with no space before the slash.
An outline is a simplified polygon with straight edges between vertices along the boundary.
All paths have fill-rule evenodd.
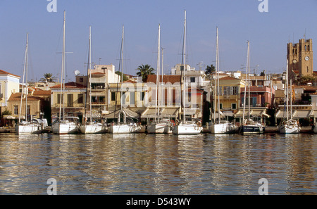
<path id="1" fill-rule="evenodd" d="M 156 69 L 156 114 L 154 120 L 148 125 L 147 132 L 149 134 L 168 134 L 173 132 L 173 134 L 200 134 L 202 131 L 202 127 L 196 122 L 191 122 L 186 120 L 185 115 L 185 89 L 186 89 L 186 11 L 185 11 L 185 20 L 184 20 L 184 37 L 183 37 L 183 47 L 182 47 L 182 70 L 181 70 L 181 107 L 182 118 L 181 122 L 172 126 L 169 120 L 163 120 L 163 115 L 161 115 L 160 111 L 160 53 L 161 53 L 161 25 L 159 25 L 159 40 L 158 40 L 158 56 L 157 56 L 157 69 Z M 63 18 L 63 50 L 62 50 L 62 65 L 61 65 L 61 99 L 59 104 L 59 118 L 52 124 L 52 132 L 54 134 L 75 134 L 78 132 L 82 132 L 82 134 L 101 134 L 107 132 L 107 127 L 105 124 L 94 122 L 92 117 L 92 84 L 91 84 L 91 75 L 92 75 L 92 31 L 91 27 L 89 27 L 89 53 L 88 53 L 88 63 L 87 63 L 87 98 L 85 101 L 85 120 L 82 125 L 79 125 L 77 117 L 66 117 L 65 116 L 65 106 L 64 106 L 64 93 L 65 93 L 65 65 L 66 65 L 66 12 L 64 11 Z M 120 50 L 120 64 L 119 64 L 119 72 L 123 75 L 123 42 L 124 40 L 124 26 L 122 30 L 122 42 L 121 42 L 121 50 Z M 227 120 L 221 120 L 221 111 L 220 111 L 220 85 L 219 85 L 219 53 L 218 53 L 218 27 L 216 28 L 216 79 L 215 85 L 213 89 L 213 123 L 209 127 L 209 130 L 212 134 L 231 134 L 237 132 L 238 127 Z M 254 122 L 250 118 L 250 82 L 249 82 L 249 42 L 248 51 L 247 51 L 247 77 L 244 87 L 244 103 L 243 103 L 243 118 L 242 118 L 242 126 L 240 127 L 240 132 L 242 134 L 256 134 L 263 133 L 264 127 L 259 122 Z M 25 65 L 23 72 L 23 80 L 24 76 L 26 76 L 27 80 L 27 48 L 28 48 L 28 34 L 27 34 L 27 44 L 25 50 Z M 163 65 L 163 63 L 162 63 Z M 287 65 L 288 66 L 288 65 Z M 162 66 L 163 68 L 163 66 Z M 288 73 L 288 70 L 287 70 Z M 88 77 L 89 75 L 89 77 Z M 119 79 L 119 77 L 118 77 Z M 161 81 L 163 82 L 163 80 Z M 25 104 L 27 104 L 27 82 L 26 83 L 26 93 L 25 93 Z M 120 95 L 123 95 L 123 76 L 120 76 Z M 89 84 L 89 87 L 88 87 Z M 119 85 L 119 81 L 118 81 Z M 248 87 L 248 89 L 247 89 Z M 24 89 L 24 87 L 23 87 Z M 287 89 L 288 89 L 288 77 L 287 77 Z M 248 118 L 245 118 L 245 108 L 246 108 L 246 98 L 247 98 L 247 90 L 248 90 Z M 88 93 L 89 91 L 89 93 Z M 287 90 L 288 91 L 288 90 Z M 217 92 L 218 92 L 218 101 L 217 101 Z M 89 95 L 89 99 L 88 99 Z M 118 87 L 116 96 L 118 96 Z M 22 108 L 23 101 L 23 92 L 21 94 L 21 106 Z M 62 103 L 63 101 L 63 103 Z M 117 99 L 116 99 L 117 101 Z M 288 101 L 288 94 L 287 94 Z M 89 117 L 87 117 L 87 104 L 89 103 Z M 27 106 L 27 105 L 26 105 Z M 216 118 L 216 110 L 218 110 L 218 118 Z M 21 111 L 20 111 L 21 113 Z M 25 121 L 20 121 L 21 115 L 19 115 L 19 124 L 16 126 L 16 130 L 18 134 L 36 134 L 42 132 L 43 126 L 39 123 L 27 122 L 27 108 L 25 109 Z M 114 115 L 116 115 L 116 109 L 114 111 Z M 123 116 L 123 120 L 121 121 L 121 115 Z M 120 110 L 118 111 L 118 121 L 116 124 L 112 124 L 110 129 L 108 130 L 112 134 L 128 134 L 128 133 L 137 133 L 139 132 L 141 127 L 137 126 L 134 122 L 127 122 L 127 116 L 125 113 L 125 109 L 123 108 L 123 100 L 120 99 Z M 281 133 L 297 133 L 300 128 L 297 125 L 295 120 L 288 120 L 288 103 L 287 103 L 287 120 L 282 123 L 278 129 Z"/>

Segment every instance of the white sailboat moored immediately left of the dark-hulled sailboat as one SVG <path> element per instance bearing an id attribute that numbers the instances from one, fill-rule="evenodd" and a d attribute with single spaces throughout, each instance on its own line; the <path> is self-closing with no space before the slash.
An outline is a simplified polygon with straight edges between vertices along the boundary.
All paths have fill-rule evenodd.
<path id="1" fill-rule="evenodd" d="M 218 39 L 218 27 L 216 27 L 217 34 L 216 34 L 216 84 L 214 89 L 214 96 L 213 96 L 213 124 L 209 127 L 211 134 L 233 134 L 237 132 L 238 127 L 229 122 L 228 120 L 220 120 L 220 94 L 218 93 L 218 103 L 216 99 L 217 89 L 219 91 L 219 39 Z M 216 120 L 216 103 L 218 109 L 218 120 Z"/>

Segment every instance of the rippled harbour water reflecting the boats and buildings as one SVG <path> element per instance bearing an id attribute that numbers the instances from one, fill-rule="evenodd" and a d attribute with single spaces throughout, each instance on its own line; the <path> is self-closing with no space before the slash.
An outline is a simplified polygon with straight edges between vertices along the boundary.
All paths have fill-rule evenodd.
<path id="1" fill-rule="evenodd" d="M 317 135 L 0 135 L 0 194 L 317 194 Z"/>

